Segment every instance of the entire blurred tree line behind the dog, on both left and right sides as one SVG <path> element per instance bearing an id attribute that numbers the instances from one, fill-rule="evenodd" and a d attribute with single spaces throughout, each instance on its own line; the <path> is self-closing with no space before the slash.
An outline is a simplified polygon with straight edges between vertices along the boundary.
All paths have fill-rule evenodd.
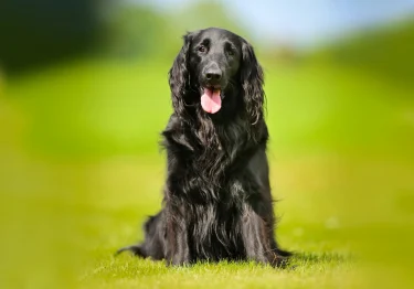
<path id="1" fill-rule="evenodd" d="M 248 39 L 244 22 L 233 17 L 217 1 L 194 1 L 172 10 L 156 10 L 148 1 L 2 0 L 0 65 L 13 73 L 82 55 L 171 61 L 185 31 L 222 26 Z M 304 58 L 295 47 L 279 45 L 265 50 L 268 61 L 295 63 Z M 307 52 L 305 58 L 352 65 L 411 84 L 412 51 L 414 21 L 407 20 L 342 38 Z"/>

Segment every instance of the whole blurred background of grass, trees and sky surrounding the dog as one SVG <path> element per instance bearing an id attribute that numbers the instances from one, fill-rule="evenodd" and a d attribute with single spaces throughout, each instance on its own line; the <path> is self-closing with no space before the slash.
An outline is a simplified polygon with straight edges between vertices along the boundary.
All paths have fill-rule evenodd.
<path id="1" fill-rule="evenodd" d="M 413 15 L 408 0 L 2 1 L 0 287 L 413 288 Z M 206 26 L 264 67 L 291 271 L 113 257 L 160 208 L 167 72 Z"/>

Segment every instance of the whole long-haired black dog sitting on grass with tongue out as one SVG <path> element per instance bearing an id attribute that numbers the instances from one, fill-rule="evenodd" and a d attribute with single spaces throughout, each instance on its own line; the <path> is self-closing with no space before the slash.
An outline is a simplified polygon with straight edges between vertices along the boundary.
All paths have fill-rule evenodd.
<path id="1" fill-rule="evenodd" d="M 222 29 L 188 33 L 169 83 L 163 208 L 145 224 L 142 244 L 119 251 L 172 265 L 284 264 L 289 253 L 274 237 L 264 81 L 253 47 Z"/>

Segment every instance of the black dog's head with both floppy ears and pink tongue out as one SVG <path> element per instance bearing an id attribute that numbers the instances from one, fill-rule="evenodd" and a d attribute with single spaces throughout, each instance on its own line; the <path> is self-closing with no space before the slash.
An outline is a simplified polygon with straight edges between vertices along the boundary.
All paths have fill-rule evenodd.
<path id="1" fill-rule="evenodd" d="M 252 45 L 216 28 L 190 32 L 183 40 L 169 73 L 176 113 L 200 106 L 209 115 L 220 115 L 232 104 L 257 122 L 263 115 L 263 71 Z"/>

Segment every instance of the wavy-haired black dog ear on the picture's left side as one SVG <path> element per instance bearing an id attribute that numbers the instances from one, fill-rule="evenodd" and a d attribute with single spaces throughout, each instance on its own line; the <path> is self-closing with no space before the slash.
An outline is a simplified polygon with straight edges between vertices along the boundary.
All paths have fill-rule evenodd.
<path id="1" fill-rule="evenodd" d="M 169 84 L 171 89 L 172 106 L 178 115 L 184 113 L 184 96 L 190 85 L 190 75 L 188 69 L 189 50 L 192 41 L 192 33 L 183 36 L 183 45 L 177 55 L 169 72 Z"/>

